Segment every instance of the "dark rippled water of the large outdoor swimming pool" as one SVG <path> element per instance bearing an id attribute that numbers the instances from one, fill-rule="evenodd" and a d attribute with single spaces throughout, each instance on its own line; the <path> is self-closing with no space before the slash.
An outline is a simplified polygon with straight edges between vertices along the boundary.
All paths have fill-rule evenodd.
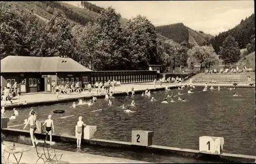
<path id="1" fill-rule="evenodd" d="M 113 99 L 113 107 L 108 101 L 98 99 L 92 106 L 83 105 L 69 108 L 72 102 L 50 106 L 33 107 L 38 113 L 38 120 L 46 120 L 48 114 L 53 114 L 55 133 L 74 135 L 78 115 L 66 119 L 56 119 L 62 116 L 105 109 L 102 111 L 82 114 L 84 123 L 97 126 L 95 138 L 131 142 L 132 130 L 154 131 L 153 144 L 199 149 L 199 136 L 222 136 L 225 138 L 224 152 L 254 155 L 255 148 L 255 118 L 254 118 L 254 88 L 236 88 L 220 91 L 202 92 L 202 87 L 196 87 L 190 95 L 188 87 L 184 90 L 173 89 L 168 92 L 156 91 L 151 96 L 159 100 L 150 102 L 151 98 L 140 95 L 121 96 Z M 163 104 L 161 101 L 167 95 L 184 93 L 181 98 L 186 102 L 177 101 Z M 233 97 L 237 92 L 242 97 Z M 135 100 L 136 105 L 130 109 L 135 113 L 124 113 L 122 104 L 130 105 Z M 65 113 L 55 114 L 52 111 L 64 109 Z M 18 109 L 16 120 L 8 126 L 23 124 L 30 108 Z M 10 116 L 12 111 L 6 111 Z M 23 125 L 13 127 L 23 129 Z"/>

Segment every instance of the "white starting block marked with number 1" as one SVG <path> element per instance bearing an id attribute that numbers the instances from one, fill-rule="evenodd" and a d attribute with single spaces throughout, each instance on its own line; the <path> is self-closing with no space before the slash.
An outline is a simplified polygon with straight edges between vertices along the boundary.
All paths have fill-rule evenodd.
<path id="1" fill-rule="evenodd" d="M 199 152 L 220 155 L 223 151 L 224 138 L 213 136 L 199 137 Z"/>

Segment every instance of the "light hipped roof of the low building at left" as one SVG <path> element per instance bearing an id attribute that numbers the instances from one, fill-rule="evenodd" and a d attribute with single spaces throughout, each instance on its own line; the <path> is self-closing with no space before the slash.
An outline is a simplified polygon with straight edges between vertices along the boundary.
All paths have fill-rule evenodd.
<path id="1" fill-rule="evenodd" d="M 7 56 L 1 60 L 1 73 L 91 72 L 71 58 Z"/>

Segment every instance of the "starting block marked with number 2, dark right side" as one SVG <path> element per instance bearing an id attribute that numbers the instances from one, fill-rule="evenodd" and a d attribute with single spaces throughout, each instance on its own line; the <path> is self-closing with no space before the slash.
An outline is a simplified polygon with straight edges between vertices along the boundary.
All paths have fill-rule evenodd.
<path id="1" fill-rule="evenodd" d="M 132 130 L 132 145 L 151 146 L 153 137 L 153 131 Z"/>

